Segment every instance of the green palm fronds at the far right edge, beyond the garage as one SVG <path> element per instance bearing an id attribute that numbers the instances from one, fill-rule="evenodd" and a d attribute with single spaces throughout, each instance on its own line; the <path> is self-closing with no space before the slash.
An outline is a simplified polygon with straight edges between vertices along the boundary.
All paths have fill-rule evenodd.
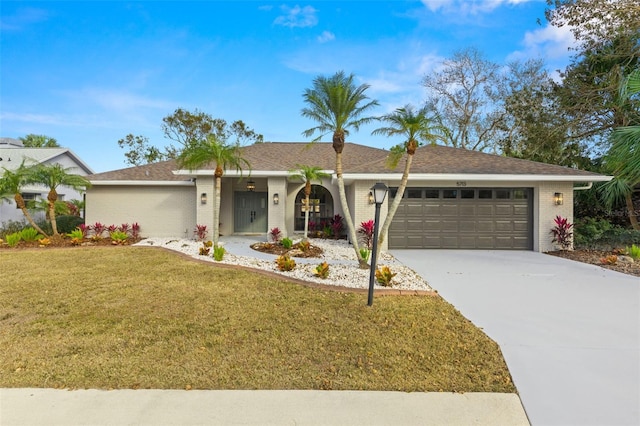
<path id="1" fill-rule="evenodd" d="M 640 69 L 635 69 L 620 87 L 620 102 L 630 102 L 639 93 Z M 640 124 L 633 124 L 613 131 L 605 163 L 614 178 L 602 185 L 599 191 L 605 205 L 609 207 L 617 200 L 624 199 L 631 226 L 640 230 L 632 198 L 634 187 L 640 184 Z"/>

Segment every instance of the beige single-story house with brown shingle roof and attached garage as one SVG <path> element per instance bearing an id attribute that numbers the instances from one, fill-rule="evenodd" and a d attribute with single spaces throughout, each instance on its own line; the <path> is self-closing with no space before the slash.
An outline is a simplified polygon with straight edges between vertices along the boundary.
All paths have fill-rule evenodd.
<path id="1" fill-rule="evenodd" d="M 384 221 L 404 160 L 385 167 L 389 152 L 347 143 L 343 177 L 357 227 L 373 219 L 370 188 L 390 190 Z M 310 221 L 344 216 L 331 143 L 260 143 L 242 148 L 251 170 L 227 170 L 222 178 L 220 234 L 284 236 L 304 229 L 304 183 L 291 178 L 298 165 L 331 174 L 313 182 Z M 138 222 L 151 237 L 191 238 L 196 225 L 212 229 L 214 178 L 210 165 L 179 170 L 173 160 L 89 176 L 86 222 Z M 610 177 L 567 167 L 476 151 L 429 145 L 414 155 L 409 183 L 384 248 L 506 249 L 549 251 L 557 215 L 573 221 L 574 191 Z"/>

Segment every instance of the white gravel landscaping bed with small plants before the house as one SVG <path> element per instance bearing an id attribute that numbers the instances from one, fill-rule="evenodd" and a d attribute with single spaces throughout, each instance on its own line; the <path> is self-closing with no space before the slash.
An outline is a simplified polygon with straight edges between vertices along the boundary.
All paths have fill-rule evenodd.
<path id="1" fill-rule="evenodd" d="M 296 267 L 293 271 L 289 272 L 282 272 L 278 270 L 275 263 L 276 256 L 255 251 L 249 247 L 249 244 L 250 243 L 248 241 L 221 241 L 220 245 L 225 247 L 227 252 L 220 263 L 267 270 L 287 277 L 319 284 L 350 288 L 369 288 L 370 270 L 360 269 L 358 267 L 353 247 L 344 240 L 312 240 L 312 245 L 322 248 L 324 251 L 323 256 L 320 258 L 294 257 L 293 259 L 296 261 Z M 200 260 L 216 262 L 211 255 L 200 255 L 199 250 L 200 247 L 202 247 L 202 243 L 194 240 L 147 238 L 136 245 L 164 247 Z M 211 253 L 213 253 L 213 249 L 211 250 Z M 329 277 L 326 279 L 322 279 L 314 275 L 315 267 L 324 261 L 329 264 Z M 397 275 L 391 281 L 391 287 L 383 287 L 375 283 L 375 289 L 380 290 L 391 288 L 396 290 L 431 290 L 429 284 L 427 284 L 422 277 L 416 274 L 412 269 L 397 261 L 389 253 L 382 252 L 377 263 L 378 267 L 388 266 L 391 269 L 391 272 L 397 273 Z"/>

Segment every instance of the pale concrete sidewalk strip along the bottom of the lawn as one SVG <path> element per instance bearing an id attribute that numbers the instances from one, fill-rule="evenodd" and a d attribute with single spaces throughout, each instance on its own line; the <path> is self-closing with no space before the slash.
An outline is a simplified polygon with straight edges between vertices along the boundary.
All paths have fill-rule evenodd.
<path id="1" fill-rule="evenodd" d="M 0 389 L 0 424 L 528 425 L 515 394 Z"/>

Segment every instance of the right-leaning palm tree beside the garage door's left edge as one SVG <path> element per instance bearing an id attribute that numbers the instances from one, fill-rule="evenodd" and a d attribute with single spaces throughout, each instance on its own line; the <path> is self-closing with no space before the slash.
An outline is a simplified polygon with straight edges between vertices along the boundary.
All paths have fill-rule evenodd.
<path id="1" fill-rule="evenodd" d="M 391 221 L 398 210 L 398 206 L 400 206 L 400 201 L 402 201 L 404 190 L 409 181 L 409 171 L 411 170 L 413 155 L 423 143 L 430 142 L 435 144 L 438 139 L 444 139 L 448 133 L 447 128 L 438 124 L 440 120 L 437 115 L 429 115 L 429 109 L 426 106 L 416 111 L 412 105 L 405 105 L 390 114 L 383 115 L 380 117 L 380 120 L 387 122 L 389 125 L 374 130 L 372 132 L 373 135 L 404 136 L 407 138 L 402 144 L 391 148 L 389 156 L 387 157 L 387 167 L 395 169 L 405 152 L 407 154 L 407 160 L 404 165 L 404 171 L 402 172 L 400 186 L 389 207 L 384 224 L 382 228 L 380 228 L 377 246 L 378 251 L 380 251 L 380 247 L 391 226 Z M 379 253 L 376 253 L 376 256 L 378 255 Z"/>

